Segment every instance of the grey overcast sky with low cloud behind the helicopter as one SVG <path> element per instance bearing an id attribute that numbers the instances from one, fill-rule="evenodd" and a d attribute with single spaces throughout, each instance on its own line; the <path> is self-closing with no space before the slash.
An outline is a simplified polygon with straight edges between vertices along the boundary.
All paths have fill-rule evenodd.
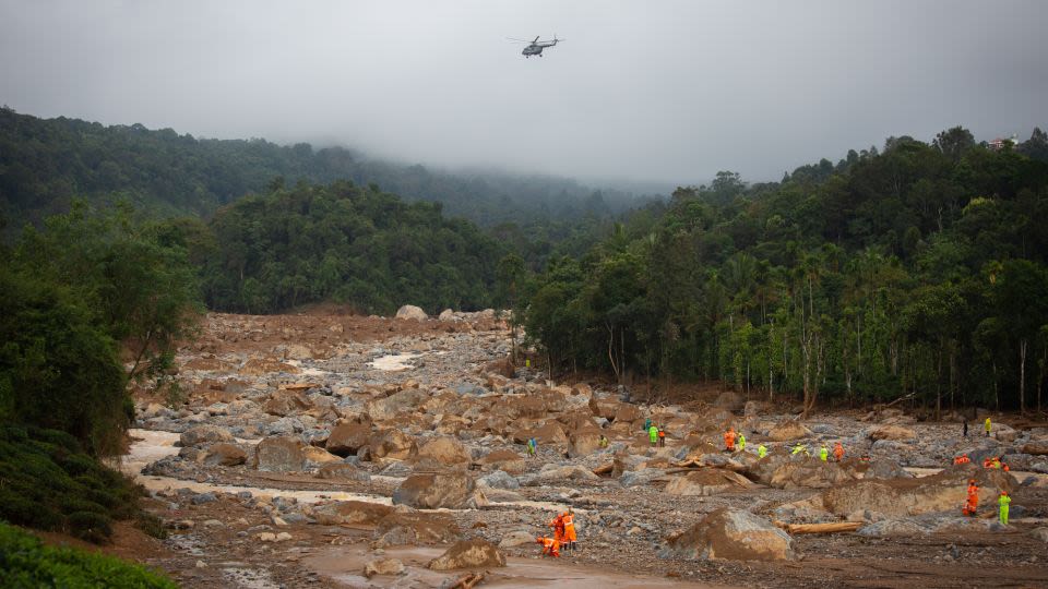
<path id="1" fill-rule="evenodd" d="M 0 104 L 430 166 L 745 180 L 1048 127 L 1048 1 L 0 0 Z M 525 59 L 507 37 L 568 39 Z"/>

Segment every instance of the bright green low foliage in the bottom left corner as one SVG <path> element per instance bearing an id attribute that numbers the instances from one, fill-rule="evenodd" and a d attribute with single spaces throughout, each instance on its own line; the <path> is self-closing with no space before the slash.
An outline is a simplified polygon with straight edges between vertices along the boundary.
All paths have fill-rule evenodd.
<path id="1" fill-rule="evenodd" d="M 70 548 L 47 546 L 39 539 L 0 522 L 0 587 L 177 588 L 147 568 Z"/>

